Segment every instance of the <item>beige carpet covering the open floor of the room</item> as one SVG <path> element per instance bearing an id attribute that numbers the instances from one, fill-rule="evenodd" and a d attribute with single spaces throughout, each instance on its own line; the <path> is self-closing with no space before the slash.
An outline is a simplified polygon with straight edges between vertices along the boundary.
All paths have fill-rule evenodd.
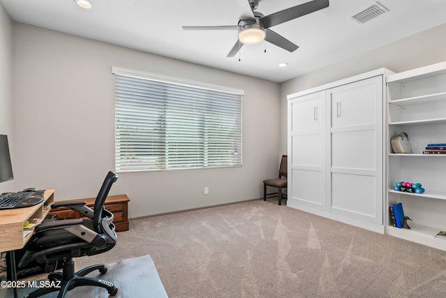
<path id="1" fill-rule="evenodd" d="M 118 243 L 152 256 L 171 298 L 446 297 L 446 252 L 274 198 L 132 221 Z"/>

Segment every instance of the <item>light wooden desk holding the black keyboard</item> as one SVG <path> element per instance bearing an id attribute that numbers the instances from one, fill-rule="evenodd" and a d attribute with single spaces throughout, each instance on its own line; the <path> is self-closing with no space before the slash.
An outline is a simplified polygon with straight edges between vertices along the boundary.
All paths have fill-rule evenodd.
<path id="1" fill-rule="evenodd" d="M 31 239 L 33 232 L 23 237 L 23 225 L 29 218 L 39 218 L 36 225 L 45 219 L 54 202 L 54 189 L 48 189 L 44 193 L 44 200 L 31 207 L 0 210 L 0 251 L 13 251 L 23 248 Z M 36 228 L 34 225 L 30 230 Z"/>

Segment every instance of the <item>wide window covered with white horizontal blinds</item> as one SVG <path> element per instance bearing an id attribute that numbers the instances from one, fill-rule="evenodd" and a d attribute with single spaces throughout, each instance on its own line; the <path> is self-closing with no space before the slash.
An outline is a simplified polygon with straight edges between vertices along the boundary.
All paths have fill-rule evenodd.
<path id="1" fill-rule="evenodd" d="M 116 172 L 242 165 L 242 90 L 113 73 Z"/>

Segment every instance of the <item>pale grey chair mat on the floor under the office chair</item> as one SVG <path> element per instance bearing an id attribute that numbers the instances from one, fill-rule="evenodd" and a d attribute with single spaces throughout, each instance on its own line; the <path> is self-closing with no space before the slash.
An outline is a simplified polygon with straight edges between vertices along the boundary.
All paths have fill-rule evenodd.
<path id="1" fill-rule="evenodd" d="M 89 277 L 103 278 L 106 281 L 114 283 L 118 288 L 116 298 L 128 297 L 167 297 L 166 291 L 160 281 L 155 265 L 150 255 L 144 255 L 139 258 L 131 258 L 107 265 L 106 274 L 99 274 L 94 271 L 88 274 Z M 43 276 L 45 277 L 45 276 Z M 31 289 L 20 289 L 18 297 L 23 297 Z M 43 297 L 57 297 L 59 293 L 54 292 Z M 12 290 L 1 290 L 0 297 L 13 297 Z M 74 288 L 68 292 L 67 297 L 109 297 L 107 290 L 98 287 L 82 286 Z"/>

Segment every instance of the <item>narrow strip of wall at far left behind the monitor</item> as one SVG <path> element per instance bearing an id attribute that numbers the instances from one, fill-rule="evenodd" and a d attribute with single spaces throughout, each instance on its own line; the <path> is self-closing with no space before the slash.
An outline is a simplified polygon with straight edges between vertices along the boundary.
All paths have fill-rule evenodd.
<path id="1" fill-rule="evenodd" d="M 11 158 L 14 159 L 12 61 L 13 22 L 0 3 L 0 134 L 8 135 Z M 0 183 L 0 193 L 11 189 L 14 189 L 14 180 Z"/>

